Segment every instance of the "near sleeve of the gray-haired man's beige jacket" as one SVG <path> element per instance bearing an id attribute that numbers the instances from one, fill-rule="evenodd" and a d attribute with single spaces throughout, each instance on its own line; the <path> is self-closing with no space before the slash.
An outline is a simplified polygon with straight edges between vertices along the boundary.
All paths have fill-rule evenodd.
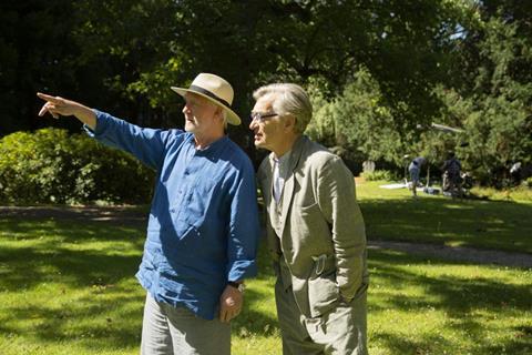
<path id="1" fill-rule="evenodd" d="M 356 201 L 355 180 L 338 156 L 328 159 L 318 174 L 318 204 L 331 229 L 336 282 L 345 300 L 351 300 L 366 272 L 366 231 Z"/>

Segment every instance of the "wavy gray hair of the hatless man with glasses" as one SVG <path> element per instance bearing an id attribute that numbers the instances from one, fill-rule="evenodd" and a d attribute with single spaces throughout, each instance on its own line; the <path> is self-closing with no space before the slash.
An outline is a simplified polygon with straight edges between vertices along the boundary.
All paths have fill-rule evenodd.
<path id="1" fill-rule="evenodd" d="M 313 104 L 305 90 L 293 83 L 274 83 L 258 88 L 253 98 L 273 97 L 273 109 L 279 115 L 293 115 L 296 119 L 296 133 L 305 132 L 313 119 Z"/>

